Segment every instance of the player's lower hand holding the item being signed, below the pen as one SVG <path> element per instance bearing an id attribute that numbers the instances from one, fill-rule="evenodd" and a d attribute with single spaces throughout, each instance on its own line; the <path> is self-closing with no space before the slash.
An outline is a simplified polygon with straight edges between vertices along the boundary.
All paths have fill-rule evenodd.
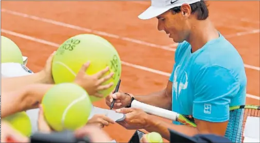
<path id="1" fill-rule="evenodd" d="M 123 121 L 118 122 L 121 126 L 129 130 L 144 129 L 148 126 L 148 114 L 143 110 L 137 108 L 121 108 L 116 112 L 124 113 L 126 115 Z"/>

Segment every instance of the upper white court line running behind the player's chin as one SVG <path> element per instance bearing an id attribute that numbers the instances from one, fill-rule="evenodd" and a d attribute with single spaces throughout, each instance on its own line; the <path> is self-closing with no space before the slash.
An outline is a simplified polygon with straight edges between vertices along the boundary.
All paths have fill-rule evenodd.
<path id="1" fill-rule="evenodd" d="M 160 48 L 160 49 L 163 49 L 163 50 L 176 51 L 175 48 L 172 48 L 172 47 L 169 47 L 169 46 L 160 46 L 160 45 L 156 45 L 156 44 L 152 44 L 152 43 L 143 42 L 143 41 L 137 40 L 137 39 L 132 39 L 132 38 L 128 38 L 128 37 L 121 37 L 119 35 L 110 34 L 110 33 L 102 32 L 102 31 L 91 30 L 91 29 L 87 29 L 87 28 L 83 28 L 83 27 L 79 27 L 79 26 L 75 26 L 75 25 L 70 25 L 70 24 L 66 24 L 66 23 L 62 23 L 62 22 L 57 22 L 57 21 L 53 21 L 51 19 L 33 16 L 33 15 L 21 13 L 21 12 L 15 12 L 15 11 L 6 10 L 6 9 L 1 9 L 1 11 L 5 12 L 5 13 L 12 14 L 12 15 L 17 15 L 17 16 L 21 16 L 21 17 L 34 19 L 35 21 L 41 21 L 41 22 L 50 23 L 50 24 L 53 24 L 53 25 L 58 25 L 58 26 L 76 29 L 76 30 L 80 30 L 80 31 L 85 31 L 85 32 L 89 32 L 89 33 L 94 33 L 94 34 L 98 34 L 98 35 L 103 35 L 103 36 L 107 36 L 107 37 L 117 38 L 117 39 L 125 40 L 127 42 L 132 42 L 132 43 L 145 45 L 145 46 L 149 46 L 149 47 Z M 177 45 L 177 44 L 175 43 L 175 45 Z M 251 66 L 251 65 L 247 65 L 247 64 L 245 64 L 245 67 L 249 68 L 249 69 L 260 71 L 260 67 L 255 67 L 255 66 Z"/>

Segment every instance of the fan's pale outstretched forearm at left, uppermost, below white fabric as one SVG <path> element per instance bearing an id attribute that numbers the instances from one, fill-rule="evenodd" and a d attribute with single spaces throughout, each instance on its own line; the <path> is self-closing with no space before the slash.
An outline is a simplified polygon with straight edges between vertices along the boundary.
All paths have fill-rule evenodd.
<path id="1" fill-rule="evenodd" d="M 19 76 L 19 77 L 9 77 L 1 79 L 1 92 L 10 92 L 15 90 L 21 90 L 25 86 L 31 84 L 50 84 L 51 81 L 44 76 L 43 72 L 38 72 L 31 75 Z"/>

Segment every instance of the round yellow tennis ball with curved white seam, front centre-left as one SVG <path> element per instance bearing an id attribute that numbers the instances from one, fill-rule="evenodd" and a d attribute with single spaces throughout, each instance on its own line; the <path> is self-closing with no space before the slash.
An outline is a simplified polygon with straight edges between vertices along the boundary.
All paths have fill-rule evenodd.
<path id="1" fill-rule="evenodd" d="M 55 131 L 86 125 L 92 108 L 87 92 L 72 83 L 54 85 L 44 95 L 42 105 L 44 117 Z"/>

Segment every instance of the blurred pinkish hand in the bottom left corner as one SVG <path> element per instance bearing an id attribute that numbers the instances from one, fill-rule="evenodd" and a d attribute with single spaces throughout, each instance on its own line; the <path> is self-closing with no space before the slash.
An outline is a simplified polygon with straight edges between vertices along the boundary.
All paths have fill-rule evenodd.
<path id="1" fill-rule="evenodd" d="M 13 129 L 8 122 L 2 121 L 1 142 L 29 142 L 29 138 Z"/>

